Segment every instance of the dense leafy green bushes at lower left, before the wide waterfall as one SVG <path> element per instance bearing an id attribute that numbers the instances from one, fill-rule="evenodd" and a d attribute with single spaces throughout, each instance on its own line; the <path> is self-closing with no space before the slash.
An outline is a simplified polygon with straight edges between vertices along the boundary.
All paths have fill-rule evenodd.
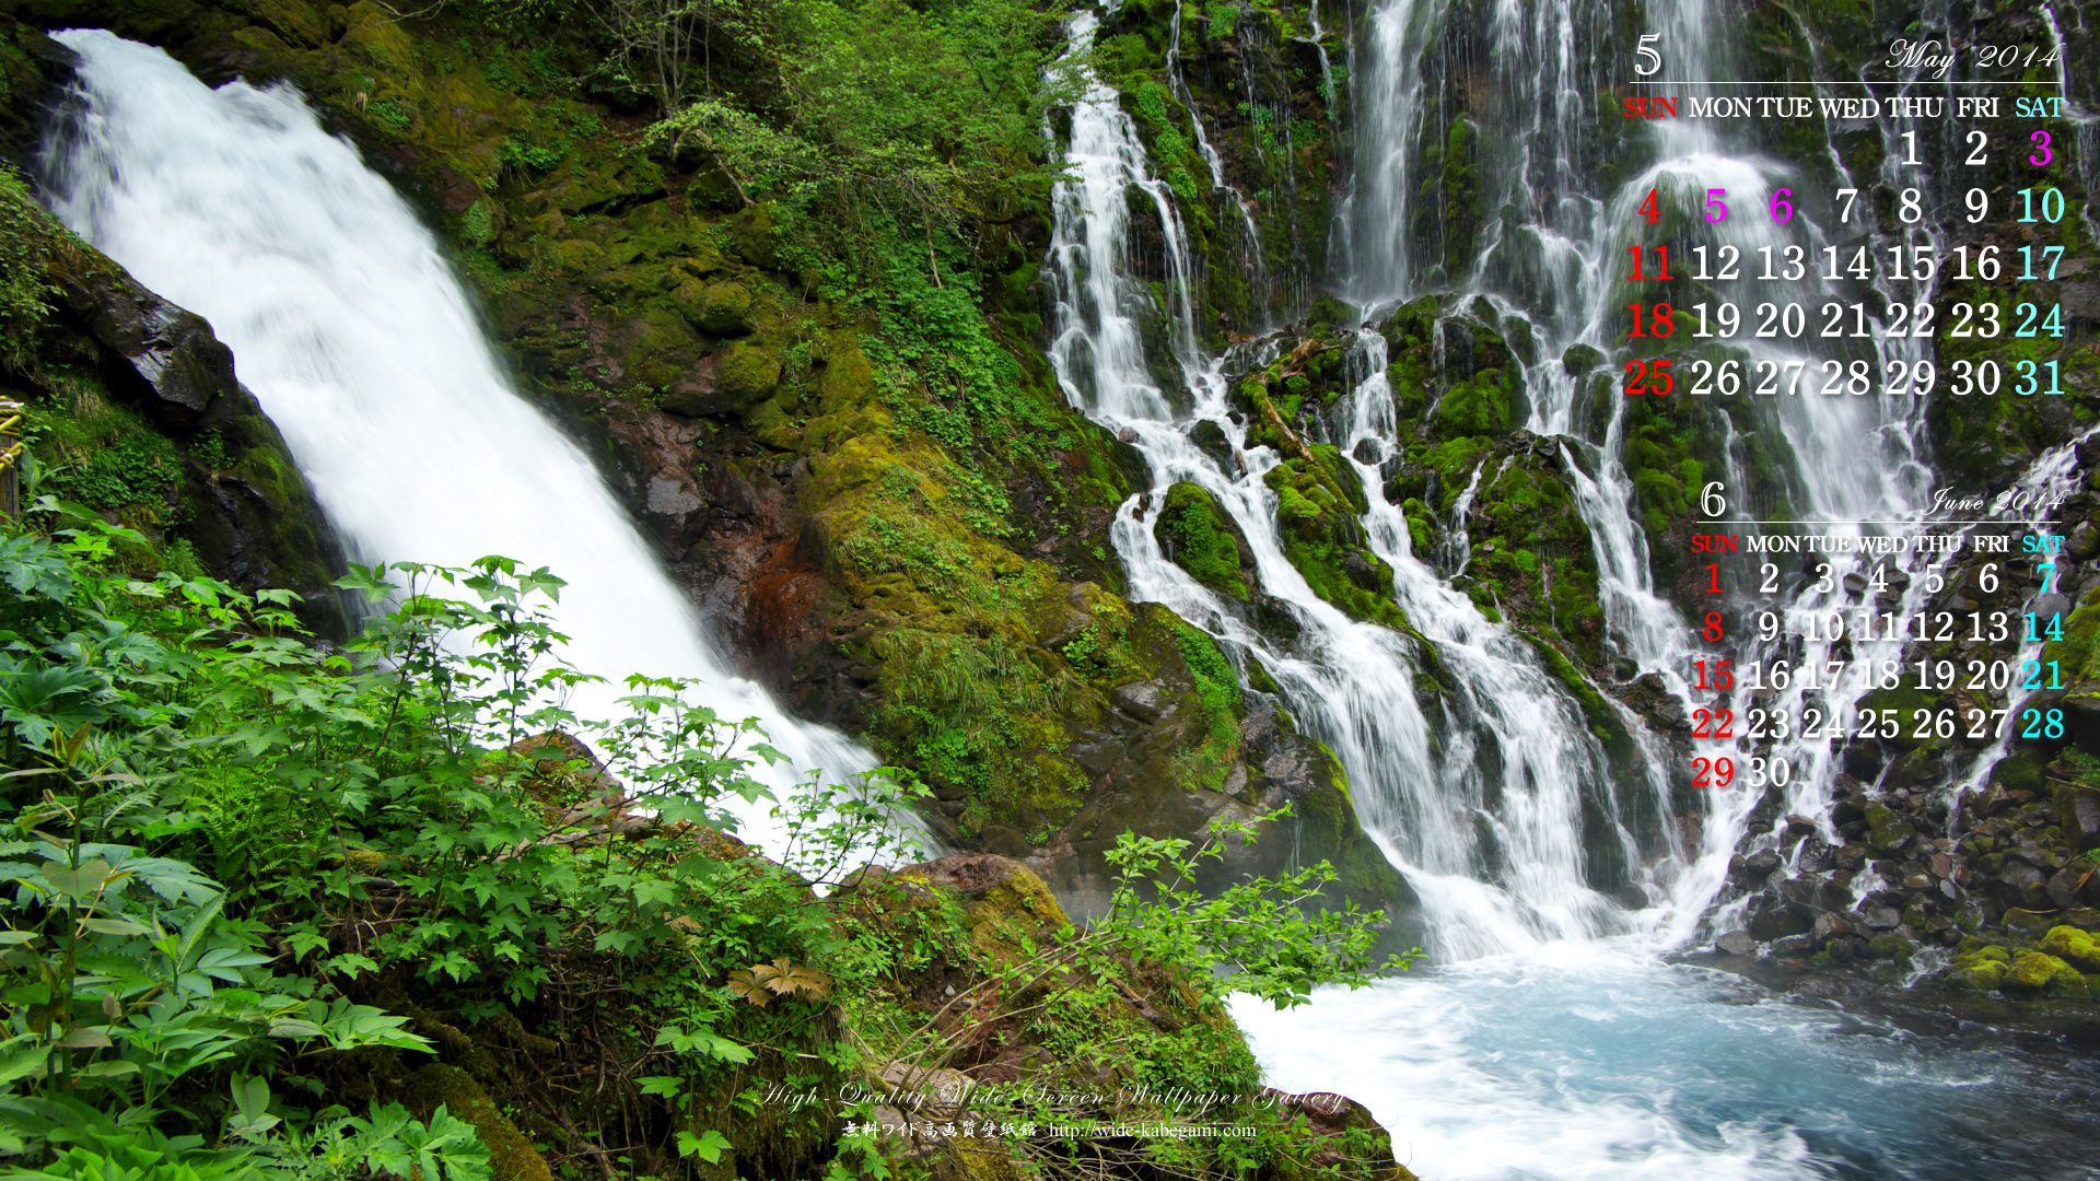
<path id="1" fill-rule="evenodd" d="M 836 937 L 804 883 L 895 855 L 880 834 L 899 788 L 865 782 L 777 811 L 779 853 L 811 878 L 693 855 L 704 824 L 729 824 L 724 796 L 769 794 L 743 771 L 771 750 L 672 681 L 636 677 L 626 717 L 573 723 L 552 698 L 584 677 L 556 658 L 544 601 L 561 584 L 546 572 L 359 569 L 346 584 L 393 609 L 328 651 L 298 635 L 286 593 L 116 569 L 116 546 L 139 542 L 92 517 L 57 540 L 0 538 L 15 767 L 0 775 L 0 1152 L 122 1175 L 134 1164 L 118 1147 L 136 1139 L 200 1177 L 290 1154 L 475 1179 L 472 1131 L 443 1110 L 426 1122 L 386 1105 L 307 1112 L 254 1086 L 340 1070 L 353 1051 L 426 1053 L 410 1017 L 359 1000 L 368 981 L 494 1015 L 565 988 L 580 962 L 630 965 L 640 994 L 668 1002 L 649 1011 L 664 1034 L 636 1053 L 695 1063 L 750 1061 L 710 1028 L 733 971 L 798 1009 L 825 996 L 804 958 Z M 620 801 L 542 803 L 565 775 L 605 775 L 519 746 L 556 721 L 596 735 L 624 775 Z M 626 824 L 628 807 L 649 822 Z M 214 857 L 244 889 L 200 870 Z M 414 918 L 374 923 L 403 906 Z M 666 952 L 668 979 L 645 969 Z M 670 988 L 640 988 L 651 977 Z M 229 1080 L 220 1126 L 208 1112 L 227 1107 Z M 168 1124 L 193 1131 L 153 1147 Z M 214 1131 L 225 1147 L 206 1149 Z"/>

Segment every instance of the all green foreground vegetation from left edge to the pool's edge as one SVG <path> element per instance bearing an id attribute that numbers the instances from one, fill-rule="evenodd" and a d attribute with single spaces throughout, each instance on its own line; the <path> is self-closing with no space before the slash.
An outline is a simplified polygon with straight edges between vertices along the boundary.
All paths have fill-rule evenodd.
<path id="1" fill-rule="evenodd" d="M 344 586 L 393 607 L 328 649 L 288 593 L 126 572 L 141 544 L 94 517 L 0 536 L 0 1154 L 25 1166 L 479 1181 L 550 1177 L 536 1145 L 617 1143 L 653 1177 L 886 1177 L 840 1112 L 750 1116 L 769 1086 L 909 1089 L 995 1028 L 1071 1080 L 1247 1091 L 1228 992 L 1294 1004 L 1405 967 L 1371 958 L 1380 914 L 1308 906 L 1325 864 L 1199 897 L 1199 862 L 1245 824 L 1203 847 L 1126 834 L 1086 933 L 1018 868 L 968 910 L 924 885 L 945 862 L 848 874 L 909 847 L 901 780 L 775 799 L 748 773 L 775 759 L 764 735 L 674 681 L 630 677 L 611 723 L 552 704 L 588 677 L 561 662 L 546 569 L 357 569 Z M 1174 643 L 1231 725 L 1222 654 Z M 731 799 L 773 805 L 777 859 L 727 836 Z M 985 1009 L 941 1019 L 928 973 Z M 1149 1023 L 1144 994 L 1178 1017 Z M 1245 1118 L 1279 1175 L 1334 1168 L 1289 1120 Z M 1073 1166 L 1056 1141 L 1025 1152 Z"/>

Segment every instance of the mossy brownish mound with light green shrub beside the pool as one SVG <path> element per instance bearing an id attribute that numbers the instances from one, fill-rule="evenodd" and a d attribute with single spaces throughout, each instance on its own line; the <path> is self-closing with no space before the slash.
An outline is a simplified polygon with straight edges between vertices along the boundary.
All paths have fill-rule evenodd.
<path id="1" fill-rule="evenodd" d="M 1180 1093 L 1203 1097 L 1214 1118 L 1231 1112 L 1233 1122 L 1256 1124 L 1262 1135 L 1258 1143 L 1186 1152 L 1142 1139 L 1128 1149 L 1105 1139 L 1010 1141 L 1031 1175 L 1212 1177 L 1264 1162 L 1302 1170 L 1275 1175 L 1336 1175 L 1306 1160 L 1310 1137 L 1302 1126 L 1245 1101 L 1260 1086 L 1260 1068 L 1231 1021 L 1226 996 L 1250 992 L 1279 1009 L 1302 1004 L 1312 988 L 1363 986 L 1409 967 L 1420 952 L 1376 960 L 1380 912 L 1317 910 L 1321 887 L 1336 878 L 1327 864 L 1281 880 L 1250 878 L 1210 899 L 1193 889 L 1201 866 L 1224 857 L 1228 841 L 1252 841 L 1258 826 L 1281 815 L 1287 809 L 1245 824 L 1220 820 L 1203 843 L 1126 832 L 1109 853 L 1109 908 L 1086 929 L 1065 923 L 1048 895 L 1033 897 L 1012 883 L 962 914 L 947 899 L 914 902 L 909 870 L 857 885 L 859 902 L 848 908 L 857 944 L 886 958 L 872 965 L 876 992 L 850 1002 L 853 1028 L 874 1057 L 892 1063 L 884 1076 L 903 1080 L 907 1097 L 897 1105 L 914 1110 L 914 1080 L 932 1080 L 991 1047 L 1014 1053 L 1033 1042 L 1075 1063 L 1077 1078 L 1117 1078 L 1121 1091 L 1107 1099 L 1090 1086 L 991 1086 L 970 1093 L 958 1118 L 1086 1124 L 1113 1110 L 1115 1120 L 1132 1122 L 1149 1118 L 1136 1112 L 1157 1112 L 1157 1099 L 1147 1095 Z M 960 965 L 968 965 L 962 979 Z M 880 990 L 916 992 L 920 975 L 958 979 L 953 996 L 918 1011 L 880 1000 Z M 1382 1145 L 1350 1143 L 1357 1160 L 1386 1154 Z"/>

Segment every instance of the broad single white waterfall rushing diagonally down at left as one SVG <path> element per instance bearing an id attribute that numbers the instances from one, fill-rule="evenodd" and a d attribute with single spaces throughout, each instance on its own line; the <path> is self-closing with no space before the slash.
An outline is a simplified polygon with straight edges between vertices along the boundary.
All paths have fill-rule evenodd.
<path id="1" fill-rule="evenodd" d="M 727 670 L 590 460 L 519 399 L 428 229 L 290 86 L 212 90 L 160 48 L 80 29 L 78 120 L 46 160 L 55 212 L 141 284 L 204 315 L 363 561 L 546 565 L 567 658 L 609 685 L 687 677 L 729 721 L 754 717 L 792 767 L 876 759 L 790 719 Z M 756 824 L 756 822 L 748 822 Z"/>

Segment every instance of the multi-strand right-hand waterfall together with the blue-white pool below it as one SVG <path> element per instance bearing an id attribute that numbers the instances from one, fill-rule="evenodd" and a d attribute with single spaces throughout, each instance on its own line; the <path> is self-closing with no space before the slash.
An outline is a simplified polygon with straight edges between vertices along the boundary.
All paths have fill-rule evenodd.
<path id="1" fill-rule="evenodd" d="M 1525 374 L 1527 427 L 1556 437 L 1596 548 L 1611 643 L 1690 706 L 1695 628 L 1651 580 L 1651 553 L 1621 460 L 1623 399 L 1613 393 L 1602 429 L 1592 424 L 1586 435 L 1586 414 L 1596 422 L 1583 406 L 1588 382 L 1554 357 L 1573 345 L 1613 353 L 1623 330 L 1621 305 L 1640 298 L 1617 279 L 1617 263 L 1623 246 L 1644 242 L 1636 210 L 1651 187 L 1686 208 L 1705 189 L 1728 189 L 1739 212 L 1718 227 L 1693 223 L 1684 242 L 1672 242 L 1680 267 L 1699 244 L 1716 256 L 1730 246 L 1743 258 L 1756 258 L 1760 248 L 1785 256 L 1787 246 L 1819 256 L 1823 246 L 1840 242 L 1880 254 L 1894 244 L 1924 244 L 1936 229 L 1884 235 L 1861 229 L 1858 221 L 1842 223 L 1827 204 L 1806 208 L 1808 202 L 1787 225 L 1749 216 L 1766 212 L 1777 189 L 1798 187 L 1800 179 L 1701 120 L 1659 120 L 1644 132 L 1648 143 L 1621 143 L 1621 158 L 1632 156 L 1634 164 L 1625 170 L 1630 179 L 1592 191 L 1583 160 L 1604 128 L 1590 111 L 1594 97 L 1617 82 L 1598 63 L 1617 59 L 1606 42 L 1623 36 L 1611 6 L 1489 4 L 1485 17 L 1468 13 L 1478 17 L 1485 44 L 1447 36 L 1462 8 L 1474 6 L 1386 0 L 1363 19 L 1365 36 L 1350 50 L 1357 179 L 1336 219 L 1329 271 L 1340 292 L 1369 311 L 1382 313 L 1422 292 L 1453 292 L 1460 301 L 1483 296 L 1497 315 L 1514 315 L 1533 330 L 1544 361 Z M 1716 6 L 1661 2 L 1646 17 L 1672 46 L 1678 78 L 1741 78 L 1735 29 Z M 1073 21 L 1075 57 L 1094 29 L 1088 15 Z M 1478 227 L 1470 254 L 1451 246 L 1464 227 L 1449 225 L 1451 210 L 1434 206 L 1420 151 L 1422 143 L 1445 145 L 1451 137 L 1460 86 L 1474 97 L 1493 90 L 1504 124 L 1474 139 L 1487 174 L 1483 206 L 1506 212 Z M 1884 124 L 1884 145 L 1903 130 L 1909 128 Z M 1623 910 L 1590 891 L 1581 878 L 1579 805 L 1602 796 L 1617 811 L 1672 811 L 1667 750 L 1659 744 L 1644 750 L 1644 767 L 1634 775 L 1640 782 L 1600 790 L 1611 769 L 1579 710 L 1539 672 L 1529 643 L 1485 620 L 1411 553 L 1407 523 L 1384 500 L 1378 473 L 1399 441 L 1384 338 L 1359 334 L 1352 359 L 1359 382 L 1315 429 L 1352 456 L 1369 494 L 1365 532 L 1394 569 L 1409 622 L 1436 645 L 1441 691 L 1418 691 L 1420 654 L 1409 643 L 1348 620 L 1317 599 L 1283 559 L 1275 498 L 1262 481 L 1283 456 L 1252 448 L 1237 452 L 1235 464 L 1220 464 L 1191 441 L 1205 420 L 1231 439 L 1241 437 L 1226 414 L 1222 374 L 1250 368 L 1247 361 L 1266 366 L 1275 347 L 1252 357 L 1201 355 L 1182 319 L 1191 313 L 1184 294 L 1170 286 L 1161 305 L 1128 277 L 1126 189 L 1151 193 L 1170 227 L 1170 248 L 1178 248 L 1178 237 L 1170 195 L 1149 177 L 1128 118 L 1100 86 L 1073 107 L 1067 168 L 1071 181 L 1058 191 L 1046 265 L 1058 313 L 1052 359 L 1065 389 L 1144 452 L 1153 502 L 1176 481 L 1193 481 L 1216 498 L 1254 548 L 1262 590 L 1287 605 L 1300 635 L 1289 645 L 1264 637 L 1235 605 L 1170 563 L 1138 504 L 1128 504 L 1113 530 L 1130 593 L 1168 603 L 1228 641 L 1235 658 L 1260 660 L 1275 675 L 1292 712 L 1342 759 L 1365 826 L 1422 897 L 1438 962 L 1411 979 L 1317 996 L 1296 1013 L 1241 1007 L 1237 1015 L 1277 1084 L 1365 1099 L 1394 1131 L 1401 1160 L 1424 1177 L 2079 1175 L 2052 1162 L 2077 1158 L 2090 1116 L 1976 1131 L 2022 1103 L 2050 1107 L 2039 1099 L 2050 1089 L 2090 1089 L 2092 1080 L 2077 1070 L 2026 1059 L 2012 1047 L 1957 1053 L 1951 1042 L 1774 1002 L 1732 977 L 1665 962 L 1667 952 L 1732 925 L 1732 912 L 1716 916 L 1709 906 L 1726 880 L 1730 853 L 1751 836 L 1745 826 L 1762 786 L 1747 775 L 1707 790 L 1705 824 L 1695 834 L 1665 830 L 1665 855 L 1644 883 L 1651 906 Z M 1903 177 L 1903 185 L 1938 202 L 1930 177 Z M 1189 263 L 1174 258 L 1174 273 L 1186 271 Z M 1804 279 L 1806 286 L 1781 286 L 1785 279 L 1749 277 L 1732 292 L 1743 307 L 1825 294 L 1842 301 L 1871 294 L 1875 307 L 1932 298 L 1926 282 L 1882 279 L 1869 292 L 1867 284 L 1842 277 Z M 1163 326 L 1174 357 L 1147 357 L 1140 324 Z M 1798 340 L 1728 345 L 1745 376 L 1758 361 L 1781 374 L 1798 364 L 1796 372 L 1816 382 L 1827 380 L 1823 361 L 1838 361 L 1848 374 L 1852 361 L 1882 372 L 1884 361 L 1915 366 L 1924 357 L 1917 343 L 1890 345 L 1886 336 L 1825 349 Z M 1182 391 L 1161 389 L 1161 361 L 1180 366 Z M 1678 380 L 1684 393 L 1688 382 Z M 1766 481 L 1760 502 L 1816 521 L 1802 532 L 1869 538 L 1896 532 L 1890 523 L 1919 519 L 1930 481 L 1917 446 L 1922 399 L 1804 391 L 1745 414 L 1741 427 L 1735 416 L 1720 416 L 1726 454 L 1712 456 L 1716 475 L 1707 477 L 1739 490 L 1728 509 L 1732 530 L 1764 527 L 1741 494 L 1754 483 L 1745 460 L 1751 431 L 1783 439 L 1779 464 L 1760 473 Z M 2031 483 L 2062 477 L 2056 469 L 2068 464 L 2066 454 L 2037 464 Z M 1493 462 L 1502 460 L 1483 460 Z M 1493 477 L 1495 471 L 1472 473 L 1474 481 Z M 1457 553 L 1462 561 L 1464 544 Z M 1858 607 L 1858 586 L 1875 584 L 1877 563 L 1886 563 L 1890 578 L 1877 609 L 1913 612 L 1947 559 L 1831 557 L 1827 580 L 1789 572 L 1783 597 L 1772 603 L 1783 630 L 1800 633 L 1804 620 L 1827 618 L 1840 603 Z M 1745 660 L 1821 662 L 1838 651 L 1831 639 L 1793 647 L 1745 641 L 1749 614 L 1737 626 L 1732 651 Z M 1808 704 L 1846 710 L 1869 689 L 1863 666 L 1898 654 L 1896 639 L 1854 639 L 1852 672 L 1840 683 L 1814 691 L 1793 683 L 1758 702 L 1745 693 L 1735 700 L 1737 712 L 1749 704 L 1781 704 L 1796 717 Z M 1478 759 L 1483 750 L 1499 757 L 1497 771 L 1483 771 L 1483 763 L 1497 763 Z M 1749 746 L 1737 752 L 1739 761 L 1749 754 Z M 1756 754 L 1793 769 L 1783 790 L 1791 805 L 1785 811 L 1827 815 L 1835 778 L 1829 742 L 1787 738 Z M 1978 752 L 1972 767 L 1987 763 L 1989 752 Z M 1630 862 L 1638 862 L 1625 824 L 1619 832 Z"/>

